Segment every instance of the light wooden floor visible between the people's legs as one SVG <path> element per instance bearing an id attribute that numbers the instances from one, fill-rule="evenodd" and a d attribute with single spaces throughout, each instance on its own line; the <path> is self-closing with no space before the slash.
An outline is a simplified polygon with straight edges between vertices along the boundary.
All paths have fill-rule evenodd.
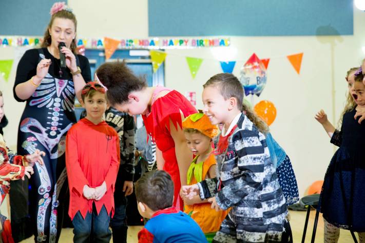
<path id="1" fill-rule="evenodd" d="M 292 231 L 293 231 L 293 239 L 294 239 L 293 242 L 294 243 L 301 242 L 303 228 L 304 228 L 305 214 L 306 214 L 306 212 L 290 211 L 290 215 L 291 215 L 290 225 L 291 225 Z M 311 216 L 310 216 L 310 219 L 309 219 L 307 234 L 306 234 L 306 237 L 305 237 L 305 242 L 311 242 L 314 217 L 315 217 L 315 211 L 312 210 L 311 211 Z M 127 242 L 128 243 L 138 242 L 137 233 L 141 229 L 142 229 L 141 226 L 129 227 L 128 228 Z M 72 229 L 63 229 L 59 242 L 60 243 L 72 242 L 72 237 L 73 237 Z M 23 243 L 30 243 L 30 242 L 33 242 L 33 239 L 29 238 L 29 239 L 23 240 L 22 242 Z M 319 216 L 315 242 L 323 242 L 323 218 L 322 218 L 322 215 Z M 352 237 L 351 237 L 350 231 L 341 230 L 340 238 L 339 238 L 338 242 L 340 242 L 340 243 L 354 242 Z"/>

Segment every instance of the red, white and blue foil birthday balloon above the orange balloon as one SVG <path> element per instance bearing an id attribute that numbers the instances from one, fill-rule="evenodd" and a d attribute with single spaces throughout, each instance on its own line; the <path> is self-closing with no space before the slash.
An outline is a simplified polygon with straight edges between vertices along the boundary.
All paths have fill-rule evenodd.
<path id="1" fill-rule="evenodd" d="M 266 68 L 254 53 L 243 65 L 240 72 L 240 82 L 245 95 L 260 96 L 266 85 Z"/>

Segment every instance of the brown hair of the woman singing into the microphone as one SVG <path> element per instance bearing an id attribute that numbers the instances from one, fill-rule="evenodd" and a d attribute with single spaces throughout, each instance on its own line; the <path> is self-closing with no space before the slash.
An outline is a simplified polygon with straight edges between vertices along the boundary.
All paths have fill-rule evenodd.
<path id="1" fill-rule="evenodd" d="M 52 27 L 53 21 L 54 21 L 55 18 L 71 19 L 71 21 L 75 25 L 75 33 L 76 33 L 76 30 L 77 30 L 77 27 L 78 27 L 78 21 L 76 20 L 76 16 L 72 12 L 70 12 L 68 10 L 58 11 L 58 12 L 56 12 L 56 13 L 54 13 L 52 15 L 52 17 L 51 17 L 51 19 L 49 21 L 49 24 L 47 26 L 46 32 L 44 33 L 44 36 L 43 36 L 43 43 L 42 43 L 42 46 L 41 47 L 48 47 L 48 46 L 51 45 L 52 38 L 51 38 L 51 35 L 49 34 L 49 29 Z M 71 51 L 73 53 L 77 53 L 77 49 L 76 49 L 76 36 L 75 36 L 75 38 L 71 42 Z"/>

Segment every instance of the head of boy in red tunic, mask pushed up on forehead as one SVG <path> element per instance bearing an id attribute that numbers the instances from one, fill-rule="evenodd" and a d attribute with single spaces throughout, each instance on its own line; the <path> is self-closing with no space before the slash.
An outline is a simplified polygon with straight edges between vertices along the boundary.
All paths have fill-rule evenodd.
<path id="1" fill-rule="evenodd" d="M 98 82 L 87 83 L 81 91 L 82 106 L 86 110 L 86 118 L 91 121 L 103 117 L 108 99 L 106 90 Z"/>

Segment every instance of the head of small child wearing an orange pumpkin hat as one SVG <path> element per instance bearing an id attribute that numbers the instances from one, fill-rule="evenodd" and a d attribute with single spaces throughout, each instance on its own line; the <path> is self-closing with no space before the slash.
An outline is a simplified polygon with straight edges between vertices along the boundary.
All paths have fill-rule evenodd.
<path id="1" fill-rule="evenodd" d="M 218 128 L 210 123 L 207 115 L 195 113 L 186 117 L 182 123 L 186 144 L 195 155 L 205 155 L 212 150 L 212 138 L 217 136 Z"/>

